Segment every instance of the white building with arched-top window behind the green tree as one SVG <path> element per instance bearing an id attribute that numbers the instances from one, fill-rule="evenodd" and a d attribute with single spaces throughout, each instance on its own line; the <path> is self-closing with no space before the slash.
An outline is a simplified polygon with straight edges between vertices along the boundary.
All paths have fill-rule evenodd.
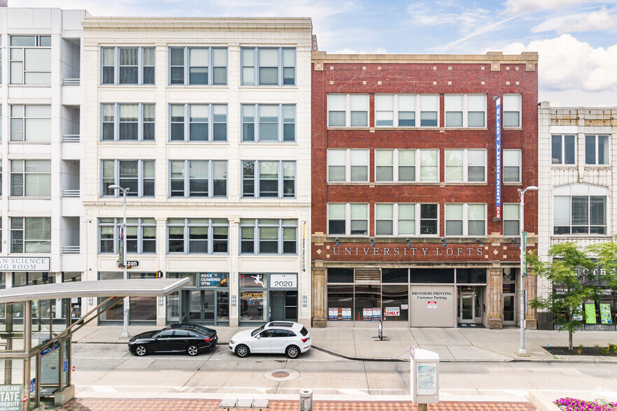
<path id="1" fill-rule="evenodd" d="M 539 103 L 539 255 L 546 259 L 555 243 L 586 245 L 611 240 L 617 234 L 617 108 L 551 107 Z M 538 280 L 539 294 L 552 285 Z M 609 304 L 616 323 L 616 295 L 606 290 L 595 301 L 597 324 L 606 329 L 600 304 Z M 539 328 L 551 328 L 546 313 L 538 313 Z M 593 325 L 593 326 L 592 326 Z M 612 328 L 614 329 L 614 328 Z"/>

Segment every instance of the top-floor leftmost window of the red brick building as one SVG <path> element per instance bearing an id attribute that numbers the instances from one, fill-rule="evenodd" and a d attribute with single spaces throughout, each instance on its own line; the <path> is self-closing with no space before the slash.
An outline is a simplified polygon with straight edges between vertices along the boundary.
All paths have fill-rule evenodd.
<path id="1" fill-rule="evenodd" d="M 369 127 L 368 94 L 328 94 L 328 127 Z"/>

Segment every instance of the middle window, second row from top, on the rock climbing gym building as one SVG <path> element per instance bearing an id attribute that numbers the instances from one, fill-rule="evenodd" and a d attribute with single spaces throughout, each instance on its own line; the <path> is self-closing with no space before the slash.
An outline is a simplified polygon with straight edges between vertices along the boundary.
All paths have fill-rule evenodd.
<path id="1" fill-rule="evenodd" d="M 226 104 L 171 104 L 170 141 L 227 141 Z"/>

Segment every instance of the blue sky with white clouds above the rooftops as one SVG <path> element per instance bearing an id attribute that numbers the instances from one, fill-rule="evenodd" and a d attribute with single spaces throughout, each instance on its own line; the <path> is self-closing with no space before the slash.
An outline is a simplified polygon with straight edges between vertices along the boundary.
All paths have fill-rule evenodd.
<path id="1" fill-rule="evenodd" d="M 539 99 L 617 106 L 617 0 L 8 0 L 92 15 L 312 17 L 327 52 L 539 52 Z"/>

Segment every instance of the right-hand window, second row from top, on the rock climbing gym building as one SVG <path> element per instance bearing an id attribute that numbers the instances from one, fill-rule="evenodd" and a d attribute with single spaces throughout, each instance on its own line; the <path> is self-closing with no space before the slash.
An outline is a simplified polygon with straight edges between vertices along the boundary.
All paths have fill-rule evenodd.
<path id="1" fill-rule="evenodd" d="M 258 120 L 258 122 L 257 122 Z M 242 141 L 296 140 L 296 106 L 293 104 L 243 104 Z"/>

